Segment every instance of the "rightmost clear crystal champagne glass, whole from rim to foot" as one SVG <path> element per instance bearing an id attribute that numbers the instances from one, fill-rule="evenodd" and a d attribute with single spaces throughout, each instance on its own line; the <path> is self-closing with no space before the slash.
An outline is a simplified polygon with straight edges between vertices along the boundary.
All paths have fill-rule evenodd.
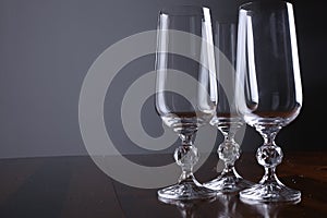
<path id="1" fill-rule="evenodd" d="M 282 150 L 278 132 L 302 107 L 302 85 L 293 7 L 284 1 L 257 1 L 239 9 L 237 109 L 262 135 L 256 158 L 265 168 L 258 184 L 240 192 L 244 202 L 296 202 L 301 192 L 282 184 L 276 167 Z"/>

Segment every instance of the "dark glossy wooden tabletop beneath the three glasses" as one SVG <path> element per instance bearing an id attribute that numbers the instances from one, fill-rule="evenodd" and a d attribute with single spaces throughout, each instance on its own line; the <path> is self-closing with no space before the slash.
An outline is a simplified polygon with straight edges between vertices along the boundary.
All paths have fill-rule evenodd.
<path id="1" fill-rule="evenodd" d="M 171 155 L 133 158 L 172 159 Z M 211 155 L 195 175 L 199 181 L 213 179 L 216 166 L 217 156 Z M 263 175 L 254 154 L 243 154 L 237 169 L 254 182 Z M 284 184 L 302 192 L 300 203 L 250 205 L 238 195 L 219 195 L 213 202 L 170 205 L 158 201 L 155 189 L 112 180 L 87 156 L 2 159 L 0 217 L 327 217 L 327 153 L 286 152 L 277 172 Z"/>

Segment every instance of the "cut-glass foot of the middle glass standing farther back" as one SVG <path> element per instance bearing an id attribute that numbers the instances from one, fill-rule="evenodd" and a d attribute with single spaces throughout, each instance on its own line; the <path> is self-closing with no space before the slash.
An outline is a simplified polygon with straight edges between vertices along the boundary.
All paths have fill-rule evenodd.
<path id="1" fill-rule="evenodd" d="M 235 174 L 220 174 L 216 179 L 204 183 L 204 186 L 221 193 L 235 193 L 254 185 L 253 182 Z"/>

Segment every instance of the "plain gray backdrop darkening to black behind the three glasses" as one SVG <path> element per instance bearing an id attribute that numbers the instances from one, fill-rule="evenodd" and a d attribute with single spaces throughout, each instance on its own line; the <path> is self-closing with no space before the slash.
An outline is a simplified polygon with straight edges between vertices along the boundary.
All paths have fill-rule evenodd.
<path id="1" fill-rule="evenodd" d="M 160 8 L 171 4 L 210 7 L 214 20 L 237 20 L 234 0 L 0 0 L 0 158 L 85 155 L 78 128 L 78 95 L 95 59 L 110 45 L 155 29 Z M 326 90 L 326 23 L 322 1 L 292 1 L 304 90 L 303 110 L 277 142 L 284 150 L 325 148 L 323 113 Z M 148 153 L 131 143 L 121 129 L 119 109 L 129 85 L 154 70 L 154 57 L 126 65 L 109 87 L 106 121 L 122 154 Z M 153 99 L 142 121 L 160 135 Z M 113 124 L 112 124 L 113 123 Z M 217 137 L 217 144 L 221 135 Z M 243 150 L 262 140 L 246 130 Z M 164 152 L 171 152 L 169 148 Z"/>

